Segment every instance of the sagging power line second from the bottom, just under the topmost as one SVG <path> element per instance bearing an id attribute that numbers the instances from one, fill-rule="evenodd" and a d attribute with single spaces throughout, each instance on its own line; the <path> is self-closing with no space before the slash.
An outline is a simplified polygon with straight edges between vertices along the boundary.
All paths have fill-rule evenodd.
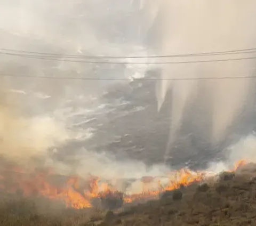
<path id="1" fill-rule="evenodd" d="M 98 63 L 98 64 L 187 64 L 187 63 L 207 63 L 207 62 L 225 62 L 225 61 L 238 61 L 238 60 L 252 60 L 256 59 L 256 56 L 245 57 L 245 58 L 229 58 L 229 59 L 216 59 L 216 60 L 196 60 L 196 61 L 166 61 L 166 62 L 113 62 L 113 61 L 79 61 L 79 60 L 67 60 L 67 59 L 56 59 L 56 58 L 45 58 L 36 55 L 27 54 L 15 54 L 15 53 L 4 53 L 0 52 L 2 55 L 12 55 L 31 59 L 39 60 L 51 60 L 51 61 L 64 61 L 64 62 L 76 62 L 76 63 Z"/>

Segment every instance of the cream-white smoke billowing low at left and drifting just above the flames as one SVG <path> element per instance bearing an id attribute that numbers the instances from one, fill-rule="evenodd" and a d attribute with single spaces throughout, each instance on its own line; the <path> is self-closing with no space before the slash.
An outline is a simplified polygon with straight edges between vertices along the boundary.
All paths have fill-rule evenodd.
<path id="1" fill-rule="evenodd" d="M 50 167 L 59 175 L 78 175 L 84 179 L 98 176 L 117 189 L 132 180 L 127 190 L 131 193 L 143 190 L 142 177 L 159 178 L 170 172 L 170 168 L 163 164 L 148 167 L 140 161 L 117 160 L 108 152 L 79 150 L 75 145 L 69 146 L 72 148 L 69 152 L 73 152 L 67 155 L 67 162 L 54 158 L 55 152 L 65 158 L 62 148 L 77 139 L 75 128 L 70 128 L 68 119 L 60 114 L 57 117 L 47 114 L 28 117 L 20 109 L 17 94 L 7 90 L 3 87 L 0 90 L 0 155 L 7 161 L 33 167 L 39 159 L 42 165 L 36 167 Z M 157 181 L 154 185 L 157 187 Z"/>

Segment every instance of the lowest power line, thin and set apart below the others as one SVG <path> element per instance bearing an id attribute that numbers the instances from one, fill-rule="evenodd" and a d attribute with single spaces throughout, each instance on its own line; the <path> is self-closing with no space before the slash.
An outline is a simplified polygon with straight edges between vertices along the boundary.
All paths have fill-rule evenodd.
<path id="1" fill-rule="evenodd" d="M 82 78 L 82 77 L 51 77 L 51 76 L 32 76 L 32 75 L 15 75 L 15 74 L 1 74 L 0 77 L 20 77 L 20 78 L 39 78 L 39 79 L 66 79 L 66 80 L 127 80 L 129 78 Z M 132 78 L 132 80 L 223 80 L 223 79 L 249 79 L 256 78 L 256 76 L 237 76 L 237 77 L 196 77 L 196 78 Z"/>

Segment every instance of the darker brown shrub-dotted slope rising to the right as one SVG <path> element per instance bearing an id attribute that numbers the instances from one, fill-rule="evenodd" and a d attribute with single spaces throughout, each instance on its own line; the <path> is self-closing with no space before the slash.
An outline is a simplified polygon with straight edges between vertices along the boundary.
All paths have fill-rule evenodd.
<path id="1" fill-rule="evenodd" d="M 111 220 L 102 219 L 100 225 L 256 225 L 255 169 L 247 166 L 236 174 L 222 174 L 214 184 L 167 192 L 160 200 L 134 206 Z"/>

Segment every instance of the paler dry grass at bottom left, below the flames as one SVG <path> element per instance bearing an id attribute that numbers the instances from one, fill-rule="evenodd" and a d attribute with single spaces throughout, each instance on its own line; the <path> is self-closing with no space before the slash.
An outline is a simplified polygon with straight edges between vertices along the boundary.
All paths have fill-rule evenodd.
<path id="1" fill-rule="evenodd" d="M 97 208 L 76 210 L 45 199 L 8 197 L 0 204 L 0 225 L 80 226 L 105 214 Z"/>

